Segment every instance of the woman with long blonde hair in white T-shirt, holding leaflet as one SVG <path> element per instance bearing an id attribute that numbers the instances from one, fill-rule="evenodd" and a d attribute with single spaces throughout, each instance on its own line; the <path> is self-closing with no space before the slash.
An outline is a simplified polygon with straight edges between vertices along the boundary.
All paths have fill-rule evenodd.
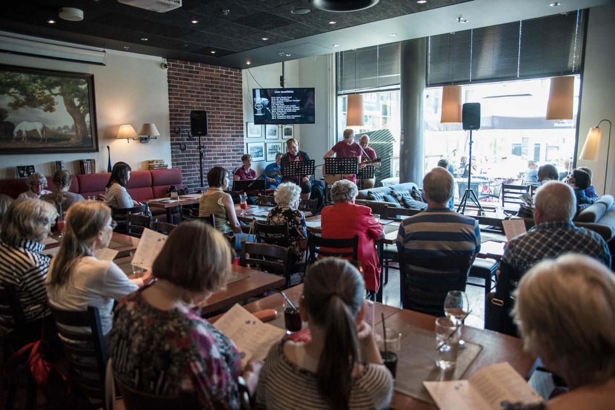
<path id="1" fill-rule="evenodd" d="M 66 214 L 62 246 L 47 277 L 49 303 L 66 311 L 97 307 L 105 336 L 111 330 L 113 301 L 121 300 L 151 279 L 148 274 L 130 280 L 113 261 L 94 256 L 97 250 L 109 245 L 115 225 L 111 209 L 101 201 L 81 201 L 71 206 Z"/>

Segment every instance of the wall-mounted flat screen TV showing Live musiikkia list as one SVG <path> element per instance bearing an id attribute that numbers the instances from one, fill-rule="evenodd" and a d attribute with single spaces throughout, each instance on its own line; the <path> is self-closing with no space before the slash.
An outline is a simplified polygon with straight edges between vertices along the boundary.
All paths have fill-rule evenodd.
<path id="1" fill-rule="evenodd" d="M 314 88 L 254 88 L 255 124 L 313 124 Z"/>

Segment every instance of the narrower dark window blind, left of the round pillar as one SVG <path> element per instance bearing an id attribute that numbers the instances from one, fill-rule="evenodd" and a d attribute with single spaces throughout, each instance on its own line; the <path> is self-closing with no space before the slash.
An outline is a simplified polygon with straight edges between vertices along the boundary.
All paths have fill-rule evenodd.
<path id="1" fill-rule="evenodd" d="M 338 94 L 399 85 L 400 42 L 337 53 Z"/>

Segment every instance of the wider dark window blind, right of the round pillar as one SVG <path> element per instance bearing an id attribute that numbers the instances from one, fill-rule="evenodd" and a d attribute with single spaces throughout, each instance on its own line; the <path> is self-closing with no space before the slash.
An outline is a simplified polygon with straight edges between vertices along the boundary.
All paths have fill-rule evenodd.
<path id="1" fill-rule="evenodd" d="M 427 85 L 575 74 L 587 10 L 427 37 Z"/>

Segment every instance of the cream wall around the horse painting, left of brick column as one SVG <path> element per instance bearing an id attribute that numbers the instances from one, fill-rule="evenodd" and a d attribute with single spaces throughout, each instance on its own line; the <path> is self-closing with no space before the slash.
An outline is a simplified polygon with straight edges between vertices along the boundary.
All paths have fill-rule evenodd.
<path id="1" fill-rule="evenodd" d="M 98 152 L 0 155 L 0 178 L 14 178 L 15 166 L 22 164 L 34 164 L 36 171 L 52 175 L 56 160 L 63 160 L 66 169 L 77 174 L 75 161 L 83 158 L 94 158 L 97 172 L 106 172 L 106 145 L 111 147 L 112 163 L 125 161 L 133 170 L 147 169 L 145 161 L 153 159 L 171 165 L 167 72 L 160 66 L 161 58 L 106 53 L 105 66 L 0 53 L 3 64 L 93 74 L 98 128 Z M 120 125 L 131 124 L 138 132 L 142 123 L 156 124 L 162 135 L 148 144 L 116 139 Z"/>

